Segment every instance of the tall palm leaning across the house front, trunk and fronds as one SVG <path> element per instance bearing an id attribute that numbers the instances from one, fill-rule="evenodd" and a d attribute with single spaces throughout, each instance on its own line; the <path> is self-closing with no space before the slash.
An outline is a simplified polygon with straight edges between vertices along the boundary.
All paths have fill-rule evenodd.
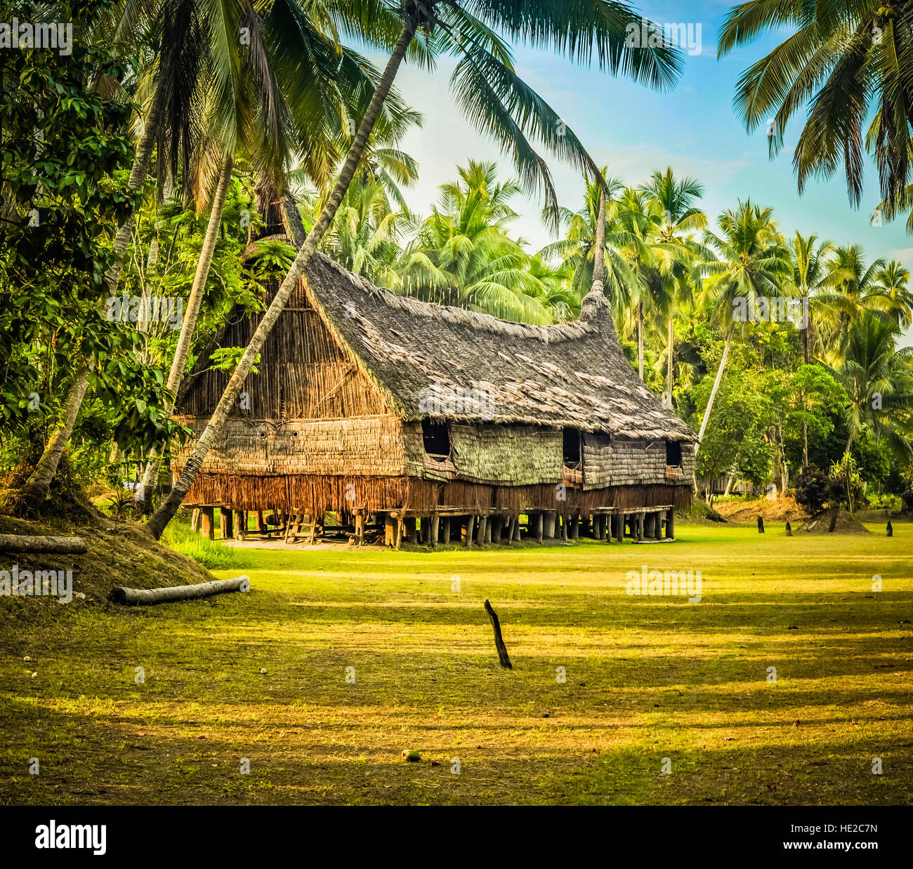
<path id="1" fill-rule="evenodd" d="M 459 58 L 451 77 L 457 106 L 470 122 L 492 135 L 502 149 L 512 153 L 520 183 L 525 188 L 544 190 L 547 201 L 555 209 L 557 202 L 551 174 L 544 160 L 532 148 L 527 134 L 534 134 L 552 152 L 581 169 L 594 171 L 595 165 L 555 111 L 519 79 L 509 48 L 498 34 L 519 39 L 530 47 L 550 47 L 572 59 L 589 59 L 595 49 L 601 68 L 630 75 L 655 87 L 666 87 L 677 79 L 681 57 L 676 49 L 626 47 L 625 26 L 636 26 L 639 16 L 622 3 L 605 0 L 581 0 L 573 5 L 555 5 L 551 0 L 463 0 L 463 3 L 465 7 L 460 0 L 447 3 L 439 0 L 400 0 L 395 6 L 380 4 L 387 9 L 395 8 L 404 19 L 393 54 L 373 91 L 327 204 L 238 361 L 170 497 L 150 519 L 149 529 L 156 538 L 161 536 L 193 484 L 210 446 L 234 408 L 236 396 L 257 353 L 307 268 L 310 257 L 330 228 L 380 115 L 383 101 L 420 29 L 436 39 L 441 50 Z"/>

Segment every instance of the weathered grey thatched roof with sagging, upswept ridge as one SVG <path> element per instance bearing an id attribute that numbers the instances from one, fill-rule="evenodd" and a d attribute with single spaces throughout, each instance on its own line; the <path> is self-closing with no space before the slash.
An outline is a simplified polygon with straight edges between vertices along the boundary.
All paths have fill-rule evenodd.
<path id="1" fill-rule="evenodd" d="M 510 323 L 397 296 L 320 254 L 310 262 L 306 293 L 405 420 L 696 439 L 640 382 L 601 295 L 584 298 L 571 323 Z"/>

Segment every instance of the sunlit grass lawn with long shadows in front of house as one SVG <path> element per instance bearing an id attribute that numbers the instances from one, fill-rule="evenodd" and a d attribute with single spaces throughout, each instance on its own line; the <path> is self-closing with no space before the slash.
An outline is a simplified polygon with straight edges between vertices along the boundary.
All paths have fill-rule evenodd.
<path id="1" fill-rule="evenodd" d="M 909 803 L 913 526 L 871 529 L 246 550 L 248 595 L 5 637 L 0 801 Z M 703 600 L 626 594 L 642 565 Z"/>

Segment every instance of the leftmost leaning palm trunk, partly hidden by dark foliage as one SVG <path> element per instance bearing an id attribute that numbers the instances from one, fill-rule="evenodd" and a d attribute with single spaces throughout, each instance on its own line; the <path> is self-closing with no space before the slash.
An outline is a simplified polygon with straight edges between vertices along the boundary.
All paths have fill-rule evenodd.
<path id="1" fill-rule="evenodd" d="M 149 162 L 152 159 L 152 147 L 158 136 L 159 125 L 162 121 L 162 110 L 165 98 L 165 89 L 158 88 L 155 91 L 155 97 L 152 99 L 152 107 L 149 110 L 149 117 L 146 119 L 145 127 L 142 131 L 142 137 L 136 147 L 136 154 L 133 158 L 133 165 L 130 171 L 130 180 L 127 183 L 131 193 L 138 193 L 142 190 L 142 185 L 146 181 L 146 173 L 149 172 Z M 108 281 L 108 288 L 111 296 L 117 295 L 118 284 L 121 280 L 121 267 L 123 258 L 130 246 L 130 236 L 133 231 L 133 215 L 131 214 L 114 236 L 114 253 L 117 255 L 114 265 L 110 267 L 108 274 L 105 276 Z M 23 487 L 23 496 L 26 499 L 26 507 L 30 509 L 37 506 L 47 497 L 47 490 L 51 485 L 51 480 L 57 473 L 60 456 L 63 455 L 67 447 L 69 435 L 76 424 L 76 418 L 79 416 L 79 408 L 82 406 L 82 400 L 86 396 L 86 390 L 89 387 L 89 365 L 84 363 L 79 367 L 79 371 L 73 379 L 69 388 L 67 399 L 64 402 L 63 416 L 61 417 L 54 433 L 47 440 L 47 446 L 44 453 L 38 460 L 32 476 L 26 481 Z"/>

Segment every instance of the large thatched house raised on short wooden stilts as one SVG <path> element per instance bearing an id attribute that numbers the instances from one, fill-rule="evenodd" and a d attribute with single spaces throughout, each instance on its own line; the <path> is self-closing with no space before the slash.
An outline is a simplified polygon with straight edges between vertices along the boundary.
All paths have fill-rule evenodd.
<path id="1" fill-rule="evenodd" d="M 220 346 L 247 345 L 258 318 Z M 207 364 L 176 413 L 196 434 L 229 377 Z M 671 539 L 690 503 L 696 438 L 640 382 L 598 293 L 573 322 L 522 325 L 397 296 L 317 255 L 257 371 L 185 499 L 209 529 L 221 508 L 226 535 L 271 510 L 287 539 L 309 524 L 313 539 L 333 512 L 356 542 L 377 530 L 397 547 Z"/>

